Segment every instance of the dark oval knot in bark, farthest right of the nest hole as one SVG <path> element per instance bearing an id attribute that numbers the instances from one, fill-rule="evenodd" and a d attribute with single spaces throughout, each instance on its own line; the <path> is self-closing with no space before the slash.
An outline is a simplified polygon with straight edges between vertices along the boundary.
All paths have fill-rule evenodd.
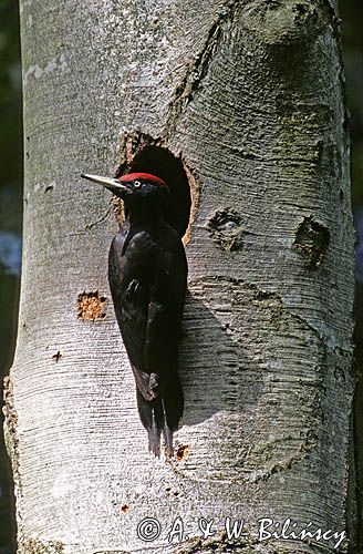
<path id="1" fill-rule="evenodd" d="M 329 242 L 329 229 L 310 216 L 304 217 L 299 225 L 293 246 L 305 257 L 310 269 L 318 269 L 326 254 Z"/>

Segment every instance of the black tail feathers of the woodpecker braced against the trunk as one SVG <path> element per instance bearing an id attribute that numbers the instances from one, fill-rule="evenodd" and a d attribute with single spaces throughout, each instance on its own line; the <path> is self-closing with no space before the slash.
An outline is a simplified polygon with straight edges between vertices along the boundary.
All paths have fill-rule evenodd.
<path id="1" fill-rule="evenodd" d="M 163 394 L 154 400 L 145 400 L 137 389 L 137 407 L 143 425 L 148 432 L 148 449 L 156 456 L 160 455 L 160 435 L 165 439 L 166 455 L 172 458 L 173 433 L 177 430 L 183 416 L 184 399 L 179 381 L 166 387 Z"/>

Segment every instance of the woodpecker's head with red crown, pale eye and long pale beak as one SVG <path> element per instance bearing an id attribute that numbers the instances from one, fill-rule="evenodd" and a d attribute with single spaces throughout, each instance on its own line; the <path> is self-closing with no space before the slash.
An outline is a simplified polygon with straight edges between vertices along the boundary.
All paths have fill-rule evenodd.
<path id="1" fill-rule="evenodd" d="M 86 174 L 81 176 L 104 186 L 128 205 L 144 204 L 145 202 L 163 203 L 170 194 L 165 181 L 151 173 L 128 173 L 115 178 Z"/>

